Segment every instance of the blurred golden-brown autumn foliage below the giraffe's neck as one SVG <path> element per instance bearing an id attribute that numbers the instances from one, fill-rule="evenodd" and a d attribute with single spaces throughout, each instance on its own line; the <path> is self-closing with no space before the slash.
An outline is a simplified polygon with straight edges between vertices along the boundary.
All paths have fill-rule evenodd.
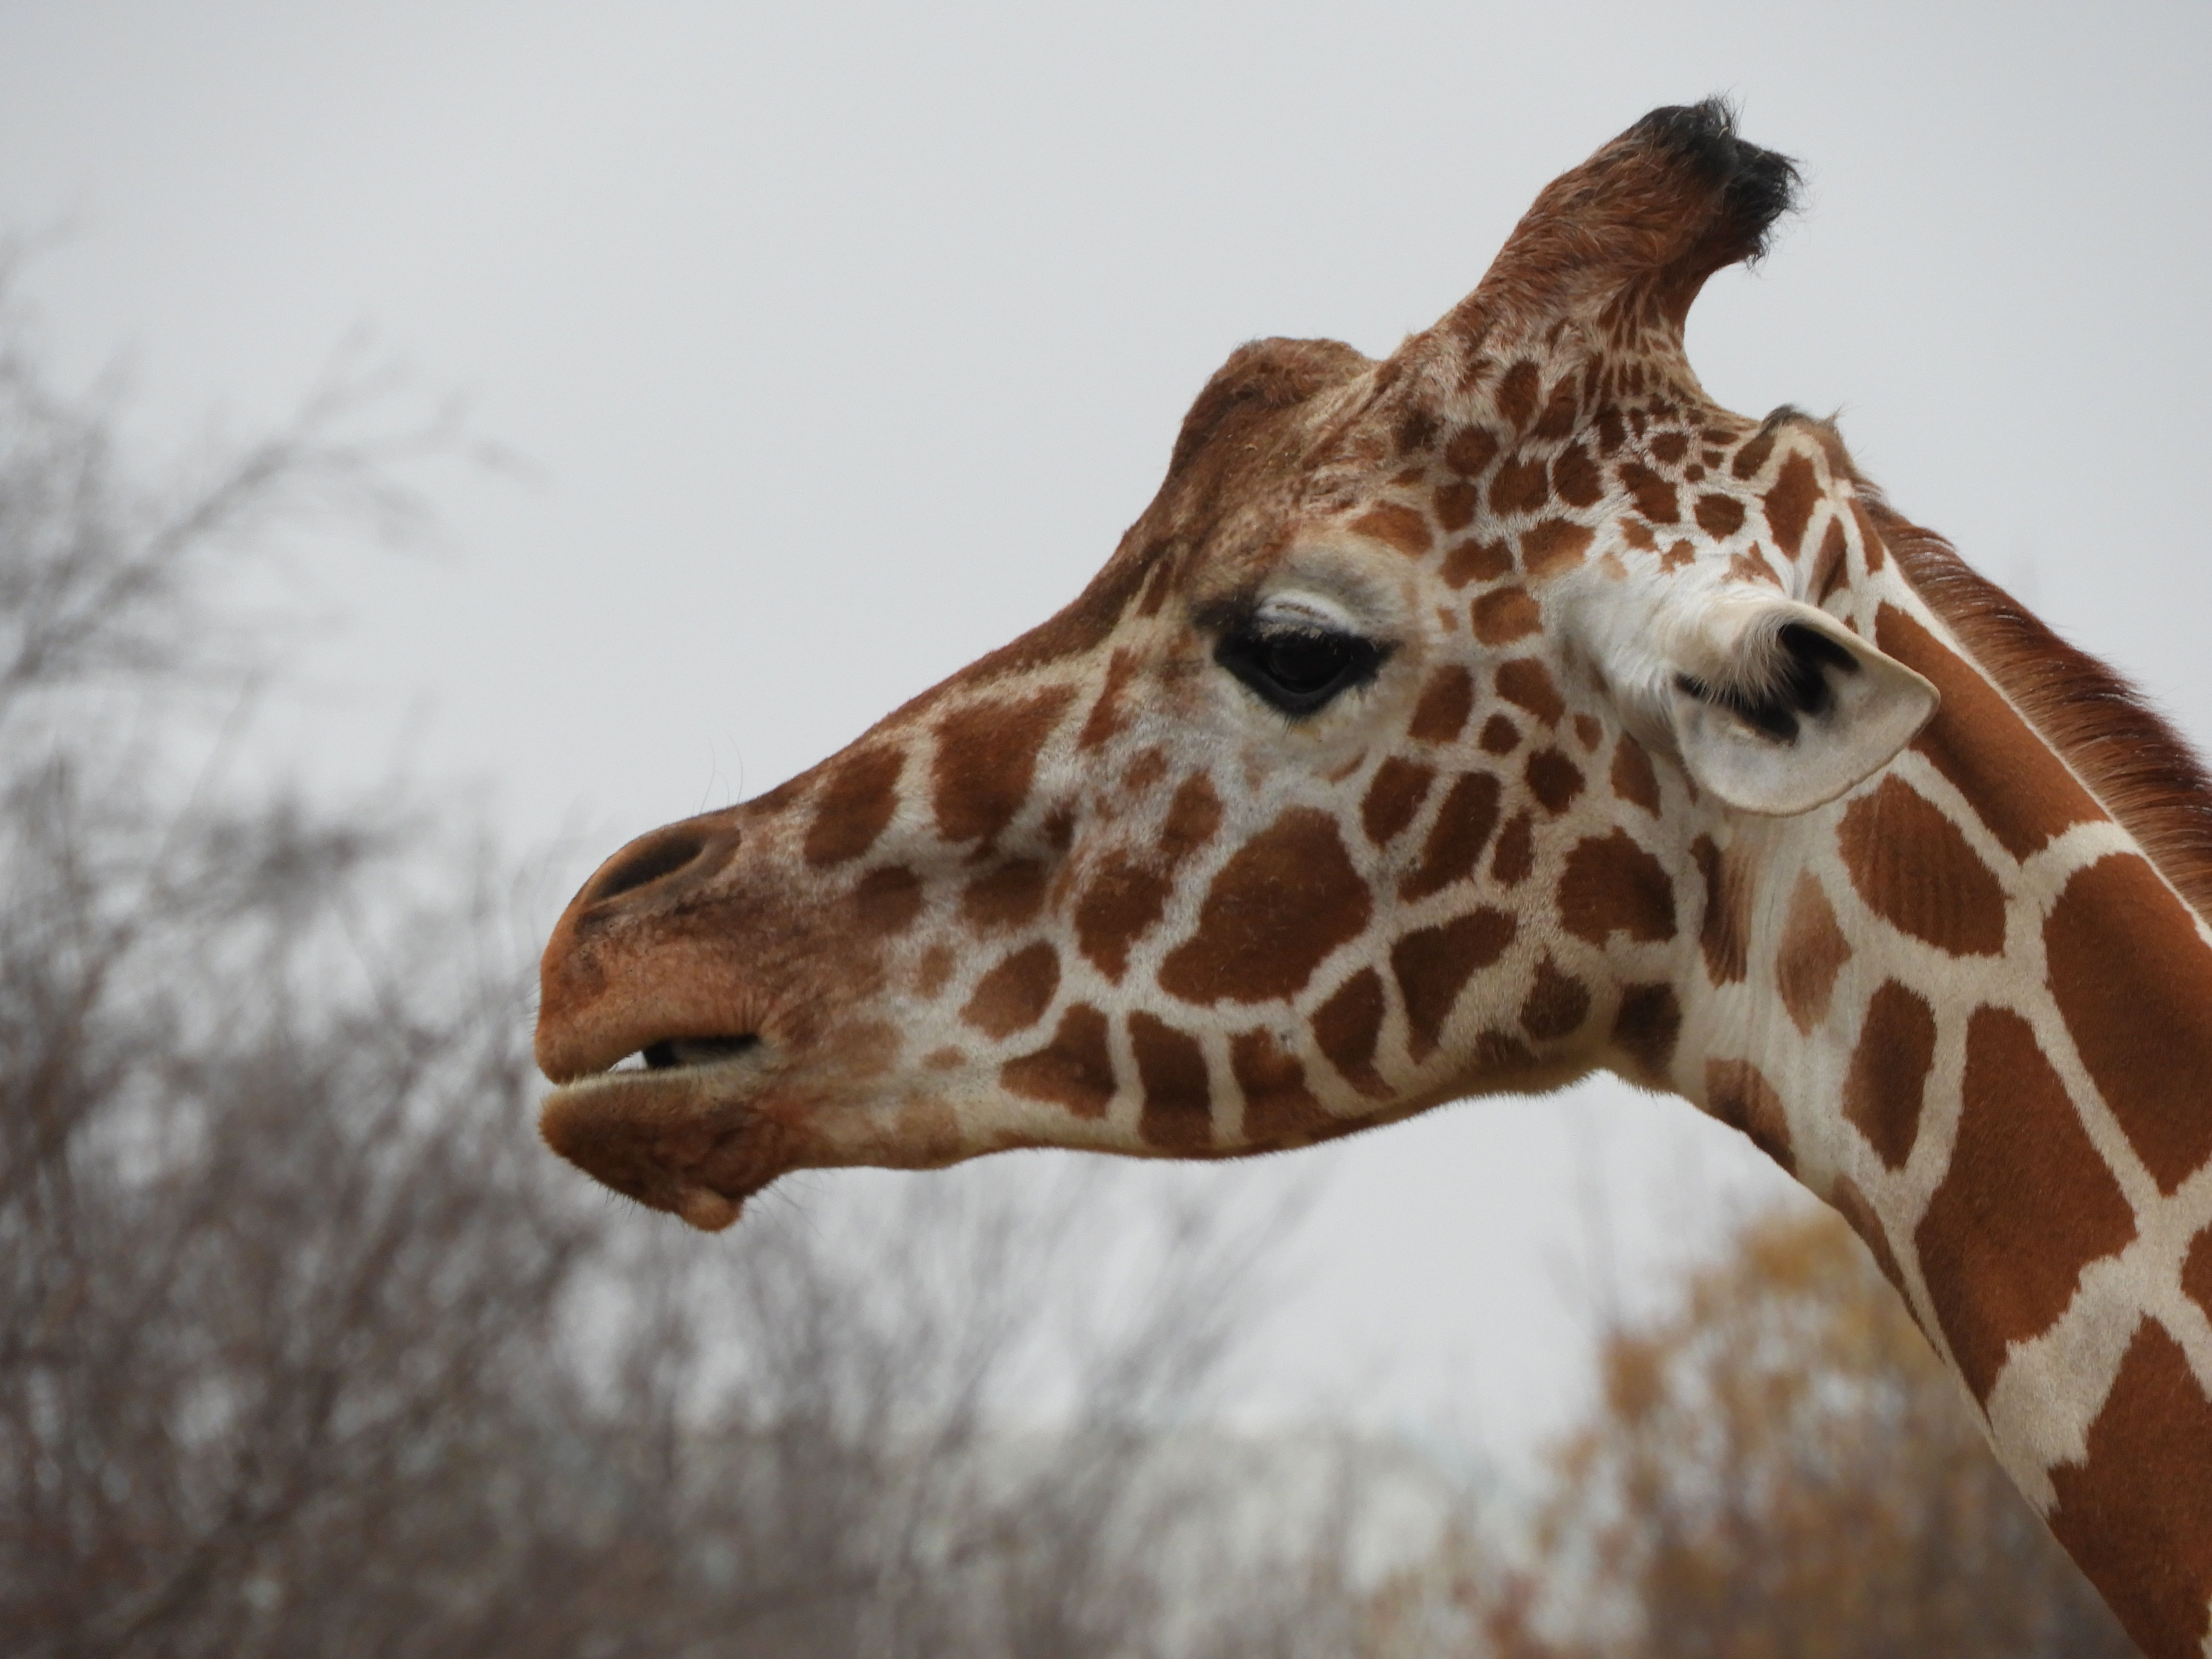
<path id="1" fill-rule="evenodd" d="M 1604 1338 L 1526 1551 L 1447 1540 L 1376 1617 L 1391 1655 L 2135 1652 L 1858 1239 L 1796 1208 Z"/>

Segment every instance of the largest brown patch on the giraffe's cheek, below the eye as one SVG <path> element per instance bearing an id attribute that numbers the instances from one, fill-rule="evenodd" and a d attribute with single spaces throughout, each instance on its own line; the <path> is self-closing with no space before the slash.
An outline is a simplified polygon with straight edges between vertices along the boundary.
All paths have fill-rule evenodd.
<path id="1" fill-rule="evenodd" d="M 1159 987 L 1201 1004 L 1296 995 L 1371 914 L 1336 818 L 1292 807 L 1214 874 L 1199 927 L 1161 962 Z"/>

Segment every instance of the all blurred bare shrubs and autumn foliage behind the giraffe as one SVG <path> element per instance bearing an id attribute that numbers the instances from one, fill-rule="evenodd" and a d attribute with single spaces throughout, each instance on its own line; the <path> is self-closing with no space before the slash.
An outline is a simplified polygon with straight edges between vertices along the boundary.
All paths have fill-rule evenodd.
<path id="1" fill-rule="evenodd" d="M 526 867 L 232 759 L 241 573 L 456 442 L 389 411 L 161 473 L 0 323 L 0 1652 L 2130 1652 L 1825 1214 L 1615 1318 L 1506 1502 L 1221 1427 L 1296 1217 L 1219 1172 L 849 1175 L 714 1243 L 588 1188 Z"/>

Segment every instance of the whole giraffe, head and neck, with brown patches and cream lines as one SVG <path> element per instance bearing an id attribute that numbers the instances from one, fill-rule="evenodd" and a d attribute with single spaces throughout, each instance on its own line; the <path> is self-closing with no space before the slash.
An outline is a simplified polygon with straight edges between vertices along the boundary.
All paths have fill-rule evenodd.
<path id="1" fill-rule="evenodd" d="M 1829 422 L 1699 387 L 1794 188 L 1661 108 L 1387 361 L 1234 352 L 1066 611 L 584 885 L 551 1148 L 723 1228 L 1606 1066 L 1840 1210 L 2137 1644 L 2212 1652 L 2212 785 Z"/>

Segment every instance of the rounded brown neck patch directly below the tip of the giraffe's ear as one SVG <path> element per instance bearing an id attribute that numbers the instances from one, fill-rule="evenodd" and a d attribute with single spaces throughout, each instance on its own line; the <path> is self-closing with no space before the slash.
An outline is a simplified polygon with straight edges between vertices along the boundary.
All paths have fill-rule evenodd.
<path id="1" fill-rule="evenodd" d="M 1966 836 L 1902 779 L 1858 796 L 1836 830 L 1867 909 L 1953 956 L 2004 949 L 2004 887 Z"/>

